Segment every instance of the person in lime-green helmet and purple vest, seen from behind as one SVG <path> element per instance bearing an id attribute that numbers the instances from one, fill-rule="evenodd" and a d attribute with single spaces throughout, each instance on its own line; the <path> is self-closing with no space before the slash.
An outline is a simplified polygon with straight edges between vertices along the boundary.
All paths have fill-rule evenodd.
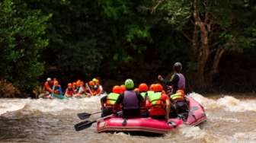
<path id="1" fill-rule="evenodd" d="M 140 116 L 140 105 L 143 101 L 143 97 L 133 91 L 133 80 L 126 79 L 124 85 L 126 86 L 126 91 L 117 98 L 117 105 L 122 104 L 123 126 L 126 125 L 126 119 Z"/>

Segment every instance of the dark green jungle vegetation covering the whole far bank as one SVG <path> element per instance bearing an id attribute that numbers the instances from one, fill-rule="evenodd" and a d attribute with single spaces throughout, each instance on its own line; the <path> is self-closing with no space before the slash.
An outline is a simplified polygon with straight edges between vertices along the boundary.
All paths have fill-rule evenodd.
<path id="1" fill-rule="evenodd" d="M 152 83 L 174 62 L 188 91 L 255 91 L 253 0 L 2 0 L 0 20 L 2 97 L 47 77 Z"/>

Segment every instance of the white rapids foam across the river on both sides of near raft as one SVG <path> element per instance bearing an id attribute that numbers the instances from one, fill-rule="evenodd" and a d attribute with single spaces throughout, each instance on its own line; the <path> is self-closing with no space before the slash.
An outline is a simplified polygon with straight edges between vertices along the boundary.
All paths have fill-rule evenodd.
<path id="1" fill-rule="evenodd" d="M 188 96 L 193 97 L 201 103 L 207 110 L 226 110 L 231 112 L 256 111 L 256 100 L 238 100 L 235 97 L 225 96 L 217 100 L 203 97 L 201 94 L 191 93 Z M 102 96 L 101 96 L 102 97 Z M 0 99 L 0 115 L 15 110 L 32 110 L 40 112 L 59 112 L 62 110 L 99 110 L 101 107 L 101 97 L 90 98 L 71 98 L 67 100 L 59 99 Z M 238 122 L 234 119 L 227 121 Z"/>

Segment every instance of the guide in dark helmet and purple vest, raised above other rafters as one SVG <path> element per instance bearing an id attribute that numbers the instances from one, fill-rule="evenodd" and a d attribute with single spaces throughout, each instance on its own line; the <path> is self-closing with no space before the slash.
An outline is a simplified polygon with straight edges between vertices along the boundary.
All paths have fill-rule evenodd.
<path id="1" fill-rule="evenodd" d="M 176 62 L 173 65 L 174 75 L 171 76 L 171 80 L 162 78 L 162 75 L 158 75 L 158 80 L 162 81 L 165 85 L 171 86 L 171 89 L 167 91 L 167 94 L 175 94 L 178 90 L 185 91 L 186 78 L 181 74 L 182 65 L 181 62 Z"/>

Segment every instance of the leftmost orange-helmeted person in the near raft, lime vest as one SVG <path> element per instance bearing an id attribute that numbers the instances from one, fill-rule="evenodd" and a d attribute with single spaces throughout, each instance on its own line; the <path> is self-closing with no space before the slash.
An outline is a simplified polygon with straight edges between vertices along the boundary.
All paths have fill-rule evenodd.
<path id="1" fill-rule="evenodd" d="M 112 92 L 107 96 L 101 97 L 101 117 L 108 116 L 112 113 L 117 113 L 120 107 L 117 106 L 117 98 L 121 94 L 120 86 L 114 86 Z"/>

